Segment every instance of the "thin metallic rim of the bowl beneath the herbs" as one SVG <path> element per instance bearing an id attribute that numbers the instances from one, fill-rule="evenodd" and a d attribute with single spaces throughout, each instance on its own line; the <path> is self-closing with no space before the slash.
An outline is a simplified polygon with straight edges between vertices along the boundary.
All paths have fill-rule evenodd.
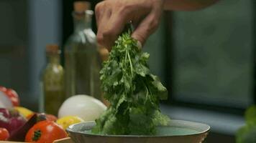
<path id="1" fill-rule="evenodd" d="M 86 133 L 86 132 L 76 132 L 73 131 L 73 126 L 77 126 L 78 124 L 93 124 L 95 123 L 94 121 L 90 121 L 90 122 L 80 122 L 80 123 L 76 123 L 76 124 L 71 124 L 66 131 L 68 133 L 75 133 L 75 134 L 84 134 L 86 136 L 90 136 L 90 137 L 188 137 L 188 136 L 194 136 L 194 135 L 199 135 L 199 134 L 205 134 L 208 133 L 209 130 L 211 129 L 211 127 L 208 124 L 204 124 L 204 123 L 199 123 L 199 122 L 190 122 L 190 121 L 185 121 L 185 120 L 178 120 L 178 119 L 171 119 L 170 120 L 170 124 L 172 124 L 172 122 L 181 122 L 181 123 L 186 123 L 186 124 L 194 124 L 194 126 L 196 125 L 201 125 L 203 126 L 205 129 L 203 129 L 203 131 L 198 131 L 194 134 L 180 134 L 180 135 L 112 135 L 112 134 L 91 134 L 91 133 Z M 162 126 L 163 127 L 163 126 Z M 196 129 L 195 129 L 196 130 Z"/>

